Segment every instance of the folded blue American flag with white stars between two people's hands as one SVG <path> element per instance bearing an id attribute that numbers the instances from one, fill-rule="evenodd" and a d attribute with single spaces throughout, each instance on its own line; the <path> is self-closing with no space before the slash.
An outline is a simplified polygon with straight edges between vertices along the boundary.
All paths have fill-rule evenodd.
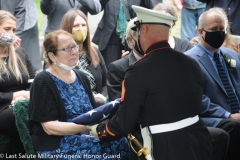
<path id="1" fill-rule="evenodd" d="M 120 98 L 84 113 L 72 120 L 72 122 L 83 125 L 94 125 L 105 119 L 112 118 L 120 106 Z"/>

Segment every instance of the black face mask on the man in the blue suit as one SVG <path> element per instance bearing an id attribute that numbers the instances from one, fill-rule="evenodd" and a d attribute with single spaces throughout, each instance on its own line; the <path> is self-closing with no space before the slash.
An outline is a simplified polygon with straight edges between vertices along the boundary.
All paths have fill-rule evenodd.
<path id="1" fill-rule="evenodd" d="M 203 40 L 213 48 L 220 48 L 225 40 L 225 36 L 226 36 L 225 31 L 216 31 L 216 32 L 205 31 L 205 32 L 206 32 L 205 39 L 203 38 Z"/>

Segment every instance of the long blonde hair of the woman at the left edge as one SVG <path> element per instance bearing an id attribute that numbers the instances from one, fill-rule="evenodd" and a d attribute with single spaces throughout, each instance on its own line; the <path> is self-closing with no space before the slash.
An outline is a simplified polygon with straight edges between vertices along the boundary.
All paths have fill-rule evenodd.
<path id="1" fill-rule="evenodd" d="M 7 11 L 0 10 L 0 26 L 7 20 L 7 19 L 12 19 L 16 22 L 16 18 Z M 3 73 L 6 73 L 8 78 L 10 75 L 10 72 L 13 73 L 13 75 L 16 77 L 17 81 L 23 82 L 23 77 L 21 71 L 23 71 L 29 78 L 29 73 L 22 62 L 21 58 L 19 55 L 15 52 L 15 48 L 13 44 L 7 46 L 5 48 L 5 51 L 8 53 L 8 63 L 7 66 L 9 69 L 7 69 L 6 64 L 4 64 L 4 61 L 0 59 L 0 81 L 3 81 Z M 20 71 L 21 69 L 21 71 Z"/>

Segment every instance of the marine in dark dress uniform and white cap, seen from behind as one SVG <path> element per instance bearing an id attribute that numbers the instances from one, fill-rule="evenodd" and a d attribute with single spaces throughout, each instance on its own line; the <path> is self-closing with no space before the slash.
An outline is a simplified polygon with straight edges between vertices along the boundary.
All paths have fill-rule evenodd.
<path id="1" fill-rule="evenodd" d="M 127 70 L 119 110 L 97 126 L 99 139 L 117 140 L 140 121 L 143 146 L 153 159 L 210 160 L 210 135 L 198 117 L 201 70 L 195 60 L 173 50 L 167 42 L 169 32 L 165 31 L 175 17 L 139 6 L 133 9 L 138 20 L 138 48 L 144 57 Z M 148 34 L 153 35 L 159 25 L 165 29 L 159 32 L 164 32 L 166 39 L 152 40 Z"/>

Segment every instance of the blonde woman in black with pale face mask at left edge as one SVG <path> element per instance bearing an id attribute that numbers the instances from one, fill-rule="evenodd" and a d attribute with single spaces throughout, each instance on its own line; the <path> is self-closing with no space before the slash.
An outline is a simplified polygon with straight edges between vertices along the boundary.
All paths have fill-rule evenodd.
<path id="1" fill-rule="evenodd" d="M 0 134 L 11 136 L 24 152 L 15 125 L 11 104 L 29 98 L 34 72 L 28 56 L 20 48 L 14 48 L 16 18 L 0 10 Z"/>

